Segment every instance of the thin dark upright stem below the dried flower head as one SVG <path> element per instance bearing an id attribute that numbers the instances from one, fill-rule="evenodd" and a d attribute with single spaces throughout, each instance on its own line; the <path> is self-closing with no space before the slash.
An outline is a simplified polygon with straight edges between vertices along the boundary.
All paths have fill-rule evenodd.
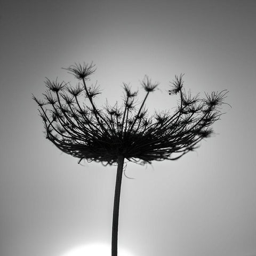
<path id="1" fill-rule="evenodd" d="M 119 202 L 120 202 L 123 167 L 124 167 L 124 157 L 119 156 L 117 161 L 116 187 L 115 187 L 115 198 L 114 198 L 114 209 L 113 209 L 111 256 L 117 256 Z"/>

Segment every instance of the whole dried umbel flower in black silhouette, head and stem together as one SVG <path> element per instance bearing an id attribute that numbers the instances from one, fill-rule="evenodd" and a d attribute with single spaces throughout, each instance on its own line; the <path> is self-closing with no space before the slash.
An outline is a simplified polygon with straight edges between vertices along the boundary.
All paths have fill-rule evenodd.
<path id="1" fill-rule="evenodd" d="M 145 102 L 156 90 L 145 76 L 141 85 L 146 96 L 139 107 L 135 105 L 137 92 L 124 86 L 122 106 L 106 105 L 98 109 L 93 98 L 100 94 L 99 86 L 86 84 L 95 71 L 91 64 L 75 64 L 66 70 L 81 84 L 72 87 L 65 82 L 46 80 L 44 100 L 34 97 L 40 107 L 46 138 L 61 151 L 87 161 L 117 164 L 112 228 L 112 256 L 117 256 L 119 199 L 124 160 L 145 164 L 165 159 L 175 160 L 198 147 L 198 142 L 213 133 L 211 125 L 222 115 L 219 107 L 227 91 L 199 94 L 192 97 L 183 89 L 182 75 L 175 76 L 168 91 L 178 94 L 178 107 L 174 113 L 162 111 L 148 115 Z M 81 102 L 81 100 L 85 102 Z"/>

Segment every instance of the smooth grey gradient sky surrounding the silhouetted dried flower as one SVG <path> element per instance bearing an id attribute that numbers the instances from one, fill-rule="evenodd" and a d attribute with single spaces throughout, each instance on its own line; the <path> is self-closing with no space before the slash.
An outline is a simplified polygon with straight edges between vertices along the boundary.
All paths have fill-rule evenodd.
<path id="1" fill-rule="evenodd" d="M 1 1 L 0 254 L 61 256 L 110 243 L 115 167 L 77 165 L 44 138 L 31 93 L 45 76 L 94 61 L 103 93 L 161 83 L 149 109 L 175 106 L 169 81 L 192 93 L 229 90 L 217 135 L 177 162 L 128 164 L 119 245 L 134 256 L 256 255 L 256 1 Z M 140 97 L 143 97 L 141 91 Z"/>

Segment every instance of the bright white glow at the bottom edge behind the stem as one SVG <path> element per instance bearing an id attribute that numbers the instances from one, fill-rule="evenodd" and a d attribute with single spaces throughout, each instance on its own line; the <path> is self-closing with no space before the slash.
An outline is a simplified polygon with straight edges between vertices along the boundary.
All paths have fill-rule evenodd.
<path id="1" fill-rule="evenodd" d="M 110 256 L 111 246 L 107 244 L 89 244 L 78 246 L 61 256 Z M 118 248 L 118 256 L 133 256 L 133 254 Z"/>

